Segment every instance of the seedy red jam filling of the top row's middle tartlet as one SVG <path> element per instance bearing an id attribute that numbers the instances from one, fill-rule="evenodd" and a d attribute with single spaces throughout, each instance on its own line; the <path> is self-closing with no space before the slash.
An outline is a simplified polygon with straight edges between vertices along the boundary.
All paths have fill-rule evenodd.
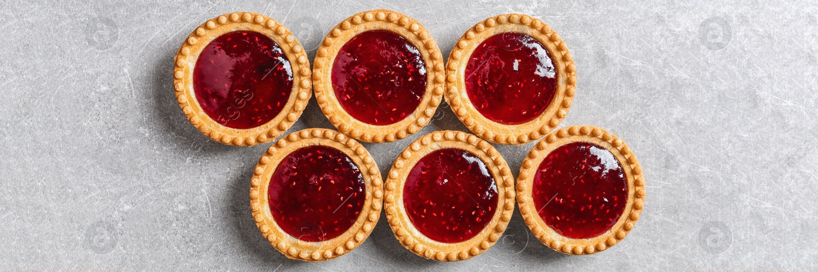
<path id="1" fill-rule="evenodd" d="M 397 33 L 371 30 L 349 40 L 335 56 L 332 88 L 344 110 L 373 125 L 398 123 L 426 91 L 426 66 L 417 47 Z"/>

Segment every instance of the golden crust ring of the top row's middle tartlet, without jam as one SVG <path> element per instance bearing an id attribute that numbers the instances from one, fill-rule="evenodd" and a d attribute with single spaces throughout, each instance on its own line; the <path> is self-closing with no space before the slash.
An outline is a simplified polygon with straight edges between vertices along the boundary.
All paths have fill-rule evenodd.
<path id="1" fill-rule="evenodd" d="M 428 73 L 426 91 L 420 105 L 407 118 L 385 126 L 363 123 L 353 118 L 340 105 L 332 87 L 332 65 L 340 48 L 355 35 L 375 29 L 398 33 L 411 42 L 423 56 Z M 438 43 L 434 42 L 423 25 L 395 11 L 374 10 L 350 16 L 326 35 L 313 63 L 312 82 L 318 105 L 335 128 L 357 140 L 382 143 L 406 138 L 429 123 L 443 96 L 444 74 L 443 56 L 440 55 Z"/>

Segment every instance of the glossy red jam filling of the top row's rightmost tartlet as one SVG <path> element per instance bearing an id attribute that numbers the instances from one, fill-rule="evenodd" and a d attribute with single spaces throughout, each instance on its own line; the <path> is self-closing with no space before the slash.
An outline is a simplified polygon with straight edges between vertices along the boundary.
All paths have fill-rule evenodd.
<path id="1" fill-rule="evenodd" d="M 551 105 L 557 74 L 551 52 L 537 39 L 506 32 L 487 38 L 465 66 L 472 105 L 489 120 L 514 125 L 537 118 Z"/>

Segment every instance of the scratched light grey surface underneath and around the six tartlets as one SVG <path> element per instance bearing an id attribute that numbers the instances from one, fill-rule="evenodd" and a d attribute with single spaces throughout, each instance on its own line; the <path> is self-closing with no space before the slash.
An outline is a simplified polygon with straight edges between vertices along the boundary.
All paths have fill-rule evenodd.
<path id="1" fill-rule="evenodd" d="M 818 270 L 813 1 L 0 2 L 0 270 Z M 488 252 L 438 263 L 404 249 L 382 216 L 334 261 L 270 247 L 248 204 L 269 144 L 221 145 L 187 123 L 173 55 L 205 20 L 253 11 L 312 58 L 331 27 L 376 8 L 419 20 L 444 56 L 488 16 L 551 25 L 578 69 L 561 126 L 608 129 L 645 169 L 635 230 L 564 256 L 517 213 Z M 331 127 L 315 100 L 290 132 L 306 127 Z M 465 127 L 444 104 L 415 136 L 366 146 L 385 172 L 438 129 Z M 516 169 L 532 145 L 496 146 Z"/>

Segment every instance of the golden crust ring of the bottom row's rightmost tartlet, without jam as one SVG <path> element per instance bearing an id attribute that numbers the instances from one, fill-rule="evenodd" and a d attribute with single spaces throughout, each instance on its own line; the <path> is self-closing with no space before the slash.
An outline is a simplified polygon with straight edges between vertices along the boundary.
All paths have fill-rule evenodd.
<path id="1" fill-rule="evenodd" d="M 587 142 L 608 149 L 622 165 L 622 171 L 627 177 L 627 204 L 622 211 L 622 216 L 619 216 L 616 224 L 610 230 L 605 231 L 605 234 L 590 239 L 570 239 L 556 233 L 537 214 L 538 210 L 537 207 L 534 207 L 532 198 L 534 174 L 542 163 L 542 159 L 554 149 L 572 142 Z M 645 207 L 645 176 L 643 176 L 642 167 L 636 155 L 617 136 L 599 127 L 564 127 L 540 140 L 523 161 L 517 179 L 517 204 L 525 224 L 546 246 L 571 255 L 593 254 L 613 247 L 633 230 L 633 225 L 639 220 L 642 209 Z"/>

